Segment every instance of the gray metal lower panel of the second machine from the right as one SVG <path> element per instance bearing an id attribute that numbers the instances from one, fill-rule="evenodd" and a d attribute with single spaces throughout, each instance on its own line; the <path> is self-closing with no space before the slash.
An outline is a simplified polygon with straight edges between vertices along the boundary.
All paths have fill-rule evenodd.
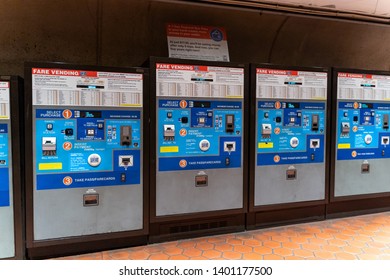
<path id="1" fill-rule="evenodd" d="M 325 199 L 325 164 L 296 164 L 297 179 L 286 180 L 290 165 L 257 166 L 255 206 Z"/>

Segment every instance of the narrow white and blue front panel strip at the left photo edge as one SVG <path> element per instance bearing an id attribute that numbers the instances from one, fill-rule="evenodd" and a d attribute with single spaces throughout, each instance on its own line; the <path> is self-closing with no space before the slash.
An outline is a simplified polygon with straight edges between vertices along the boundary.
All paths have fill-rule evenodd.
<path id="1" fill-rule="evenodd" d="M 0 207 L 10 206 L 10 86 L 0 82 Z"/>

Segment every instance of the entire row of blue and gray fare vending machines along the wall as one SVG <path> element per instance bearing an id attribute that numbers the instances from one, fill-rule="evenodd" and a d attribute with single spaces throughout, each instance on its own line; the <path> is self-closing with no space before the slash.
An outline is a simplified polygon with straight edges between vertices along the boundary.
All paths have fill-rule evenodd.
<path id="1" fill-rule="evenodd" d="M 0 258 L 389 209 L 390 73 L 151 58 L 0 81 Z"/>

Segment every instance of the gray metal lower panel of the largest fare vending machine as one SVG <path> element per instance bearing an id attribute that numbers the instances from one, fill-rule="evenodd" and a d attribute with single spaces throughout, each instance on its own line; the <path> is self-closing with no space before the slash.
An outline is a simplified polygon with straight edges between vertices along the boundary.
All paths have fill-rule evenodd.
<path id="1" fill-rule="evenodd" d="M 34 239 L 143 228 L 141 185 L 95 188 L 98 206 L 83 206 L 85 189 L 34 191 Z"/>

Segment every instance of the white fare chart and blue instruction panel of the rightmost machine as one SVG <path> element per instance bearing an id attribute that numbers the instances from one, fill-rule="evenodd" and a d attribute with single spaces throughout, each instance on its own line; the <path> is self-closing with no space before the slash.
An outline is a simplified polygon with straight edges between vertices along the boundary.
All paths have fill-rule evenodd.
<path id="1" fill-rule="evenodd" d="M 389 101 L 389 76 L 338 73 L 338 160 L 390 158 Z"/>

